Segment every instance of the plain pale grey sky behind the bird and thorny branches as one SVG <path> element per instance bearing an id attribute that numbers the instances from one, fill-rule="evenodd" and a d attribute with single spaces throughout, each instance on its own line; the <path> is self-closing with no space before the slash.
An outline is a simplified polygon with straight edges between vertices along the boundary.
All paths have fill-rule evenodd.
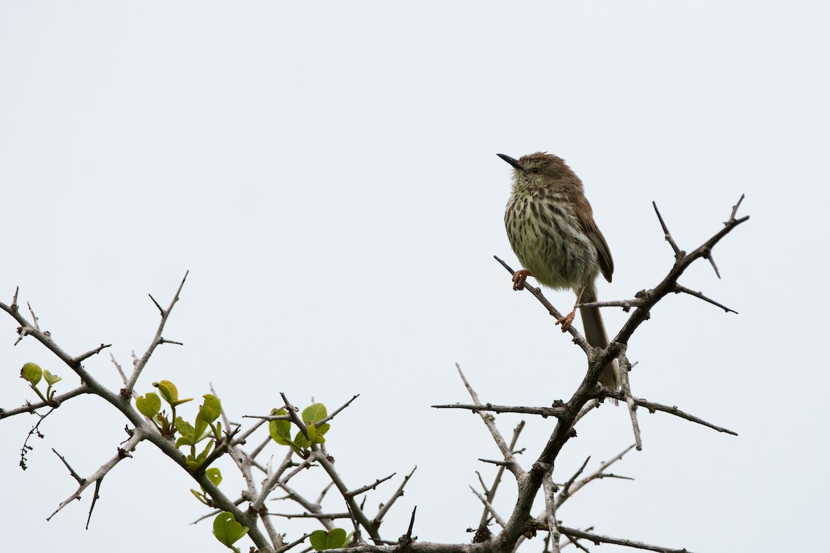
<path id="1" fill-rule="evenodd" d="M 826 254 L 830 201 L 824 2 L 2 2 L 0 298 L 17 285 L 41 326 L 129 365 L 184 271 L 188 283 L 138 389 L 216 387 L 235 420 L 285 391 L 334 407 L 330 452 L 350 486 L 413 485 L 383 526 L 468 541 L 468 489 L 497 450 L 466 401 L 567 398 L 583 357 L 492 255 L 510 167 L 566 158 L 585 182 L 632 298 L 671 267 L 657 201 L 681 247 L 752 219 L 681 280 L 735 308 L 671 297 L 630 343 L 635 394 L 735 429 L 643 412 L 645 448 L 559 512 L 568 526 L 691 551 L 816 551 L 830 493 Z M 569 293 L 549 293 L 560 308 Z M 606 312 L 610 331 L 625 320 Z M 0 406 L 32 399 L 35 361 L 76 378 L 0 318 Z M 108 356 L 86 363 L 119 386 Z M 815 394 L 811 392 L 815 390 Z M 505 434 L 520 417 L 500 416 Z M 530 465 L 553 420 L 527 419 Z M 0 421 L 7 551 L 222 551 L 193 483 L 143 444 L 51 522 L 74 481 L 125 439 L 95 398 L 67 403 L 18 468 L 32 417 Z M 632 443 L 623 409 L 579 425 L 554 479 Z M 274 448 L 281 455 L 280 448 Z M 227 463 L 222 488 L 242 487 Z M 399 478 L 398 476 L 398 478 Z M 322 479 L 297 486 L 315 495 Z M 396 483 L 369 496 L 383 502 Z M 509 512 L 512 481 L 497 507 Z M 339 508 L 334 494 L 329 505 Z M 285 510 L 287 504 L 271 504 Z M 278 522 L 299 536 L 310 524 Z M 247 547 L 247 541 L 245 547 Z M 526 551 L 540 551 L 541 538 Z M 603 546 L 603 551 L 621 551 Z"/>

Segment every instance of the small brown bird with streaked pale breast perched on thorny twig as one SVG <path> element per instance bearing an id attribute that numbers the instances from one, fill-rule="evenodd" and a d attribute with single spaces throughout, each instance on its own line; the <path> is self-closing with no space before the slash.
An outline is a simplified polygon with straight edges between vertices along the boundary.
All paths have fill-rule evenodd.
<path id="1" fill-rule="evenodd" d="M 510 246 L 524 269 L 513 275 L 513 289 L 525 287 L 533 276 L 552 289 L 573 289 L 576 305 L 597 301 L 594 280 L 599 273 L 611 282 L 614 262 L 608 243 L 593 221 L 593 211 L 582 181 L 564 159 L 549 153 L 531 153 L 520 159 L 498 154 L 513 166 L 513 188 L 505 211 Z M 574 321 L 574 310 L 557 321 L 562 331 Z M 608 347 L 603 316 L 598 308 L 582 308 L 585 339 L 593 347 Z M 619 388 L 616 361 L 599 382 Z"/>

